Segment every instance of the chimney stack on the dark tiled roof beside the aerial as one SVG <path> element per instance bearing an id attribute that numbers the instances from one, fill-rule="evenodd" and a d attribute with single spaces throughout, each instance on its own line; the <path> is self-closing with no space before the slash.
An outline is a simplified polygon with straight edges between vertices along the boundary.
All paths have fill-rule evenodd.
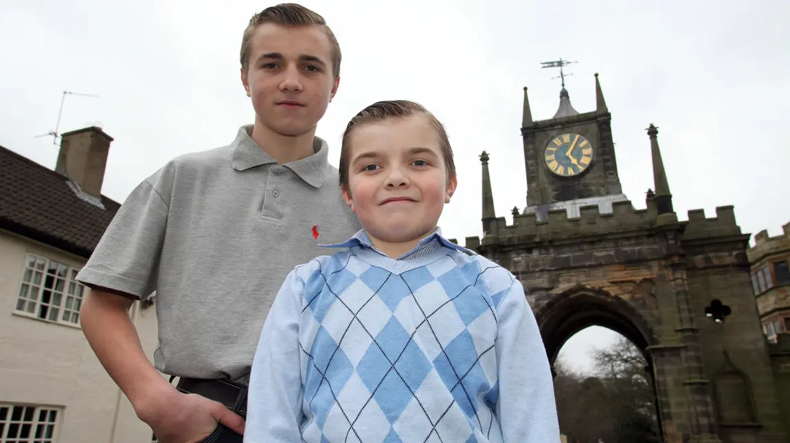
<path id="1" fill-rule="evenodd" d="M 96 126 L 62 134 L 55 172 L 69 177 L 85 194 L 100 198 L 112 140 Z"/>

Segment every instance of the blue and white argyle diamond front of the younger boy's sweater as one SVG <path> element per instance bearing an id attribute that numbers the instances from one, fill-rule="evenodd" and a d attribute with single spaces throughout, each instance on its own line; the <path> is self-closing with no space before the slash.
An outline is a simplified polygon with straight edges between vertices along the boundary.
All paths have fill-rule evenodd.
<path id="1" fill-rule="evenodd" d="M 393 274 L 334 255 L 303 281 L 305 441 L 479 441 L 497 427 L 502 268 L 444 255 Z M 498 268 L 498 271 L 496 270 Z M 492 291 L 493 289 L 493 291 Z"/>

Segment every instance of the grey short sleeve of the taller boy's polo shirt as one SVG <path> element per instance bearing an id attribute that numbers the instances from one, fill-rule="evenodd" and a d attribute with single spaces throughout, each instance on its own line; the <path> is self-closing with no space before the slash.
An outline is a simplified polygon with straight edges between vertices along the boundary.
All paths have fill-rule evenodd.
<path id="1" fill-rule="evenodd" d="M 100 287 L 145 299 L 156 290 L 157 270 L 167 228 L 167 203 L 150 177 L 134 188 L 77 275 Z"/>

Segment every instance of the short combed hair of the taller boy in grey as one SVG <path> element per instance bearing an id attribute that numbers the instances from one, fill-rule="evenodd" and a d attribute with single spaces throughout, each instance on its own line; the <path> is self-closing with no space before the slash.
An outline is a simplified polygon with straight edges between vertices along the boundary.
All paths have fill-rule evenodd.
<path id="1" fill-rule="evenodd" d="M 329 43 L 333 47 L 332 68 L 334 76 L 335 78 L 340 76 L 340 43 L 337 43 L 337 38 L 335 38 L 332 29 L 326 24 L 324 17 L 296 3 L 280 3 L 280 5 L 269 6 L 250 18 L 250 24 L 247 24 L 242 38 L 240 54 L 242 69 L 246 70 L 250 64 L 250 39 L 252 39 L 252 35 L 259 25 L 265 23 L 280 24 L 282 26 L 310 26 L 311 24 L 323 26 L 327 37 L 329 37 Z"/>

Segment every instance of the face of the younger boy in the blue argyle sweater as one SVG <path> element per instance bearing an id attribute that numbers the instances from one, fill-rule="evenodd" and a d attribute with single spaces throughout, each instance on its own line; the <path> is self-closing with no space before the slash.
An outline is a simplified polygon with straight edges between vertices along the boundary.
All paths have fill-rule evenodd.
<path id="1" fill-rule="evenodd" d="M 436 130 L 416 115 L 353 129 L 343 197 L 368 235 L 387 243 L 419 239 L 436 227 L 455 192 Z"/>

